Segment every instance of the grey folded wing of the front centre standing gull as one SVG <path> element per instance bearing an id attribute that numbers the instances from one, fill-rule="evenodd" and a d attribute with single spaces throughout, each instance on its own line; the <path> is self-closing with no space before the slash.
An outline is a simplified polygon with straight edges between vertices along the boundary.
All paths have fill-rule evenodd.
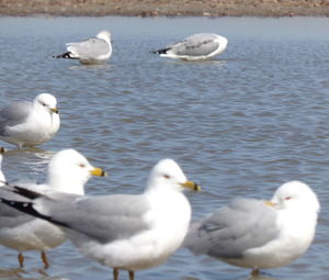
<path id="1" fill-rule="evenodd" d="M 148 228 L 143 215 L 149 204 L 143 195 L 105 195 L 45 202 L 52 220 L 65 224 L 68 232 L 78 232 L 100 243 L 128 238 Z M 64 229 L 66 229 L 64 227 Z"/>

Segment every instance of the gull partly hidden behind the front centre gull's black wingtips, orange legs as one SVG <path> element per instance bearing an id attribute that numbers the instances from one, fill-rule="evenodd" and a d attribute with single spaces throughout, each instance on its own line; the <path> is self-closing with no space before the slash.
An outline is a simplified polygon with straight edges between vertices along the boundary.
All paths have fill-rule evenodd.
<path id="1" fill-rule="evenodd" d="M 63 192 L 83 195 L 84 183 L 92 175 L 105 176 L 105 172 L 101 168 L 91 166 L 86 157 L 77 150 L 64 149 L 50 159 L 45 184 L 26 183 L 24 188 L 45 194 Z M 4 182 L 4 180 L 1 179 L 1 182 Z M 22 197 L 9 192 L 13 189 L 10 188 L 9 183 L 5 184 L 5 187 L 0 188 L 0 195 L 22 201 Z M 60 245 L 65 240 L 66 236 L 59 227 L 2 203 L 0 204 L 0 244 L 18 250 L 20 267 L 24 265 L 23 251 L 39 250 L 44 267 L 48 268 L 46 250 Z"/>

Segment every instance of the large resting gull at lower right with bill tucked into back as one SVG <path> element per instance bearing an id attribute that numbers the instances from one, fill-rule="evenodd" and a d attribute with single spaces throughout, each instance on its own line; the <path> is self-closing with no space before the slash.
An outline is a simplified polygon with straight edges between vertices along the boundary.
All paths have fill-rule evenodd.
<path id="1" fill-rule="evenodd" d="M 236 199 L 192 223 L 184 246 L 258 275 L 259 269 L 288 265 L 307 250 L 319 210 L 306 183 L 288 181 L 271 201 Z"/>

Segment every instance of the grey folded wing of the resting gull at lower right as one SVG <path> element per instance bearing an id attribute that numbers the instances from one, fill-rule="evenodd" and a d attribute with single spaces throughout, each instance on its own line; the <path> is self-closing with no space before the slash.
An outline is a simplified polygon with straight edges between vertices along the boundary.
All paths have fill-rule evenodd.
<path id="1" fill-rule="evenodd" d="M 276 213 L 263 201 L 238 199 L 191 225 L 185 246 L 194 254 L 239 258 L 279 235 Z"/>

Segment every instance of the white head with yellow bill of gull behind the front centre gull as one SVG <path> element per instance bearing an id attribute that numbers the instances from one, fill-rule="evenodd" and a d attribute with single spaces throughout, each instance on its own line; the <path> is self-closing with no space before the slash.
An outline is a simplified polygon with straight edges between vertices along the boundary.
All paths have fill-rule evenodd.
<path id="1" fill-rule="evenodd" d="M 56 191 L 84 194 L 83 187 L 91 176 L 106 176 L 106 172 L 90 165 L 75 149 L 58 152 L 48 164 L 48 184 Z"/>

